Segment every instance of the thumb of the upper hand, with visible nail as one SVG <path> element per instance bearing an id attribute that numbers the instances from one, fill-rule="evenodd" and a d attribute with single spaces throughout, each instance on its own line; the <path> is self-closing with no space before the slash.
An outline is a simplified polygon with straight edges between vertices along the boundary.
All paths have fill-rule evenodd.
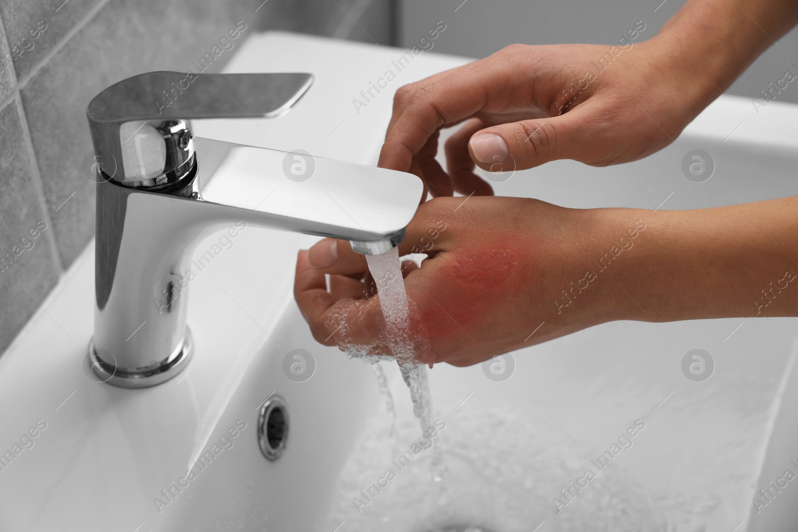
<path id="1" fill-rule="evenodd" d="M 487 171 L 525 170 L 557 159 L 583 160 L 594 147 L 587 138 L 590 121 L 582 114 L 574 110 L 484 128 L 468 141 L 468 152 Z"/>

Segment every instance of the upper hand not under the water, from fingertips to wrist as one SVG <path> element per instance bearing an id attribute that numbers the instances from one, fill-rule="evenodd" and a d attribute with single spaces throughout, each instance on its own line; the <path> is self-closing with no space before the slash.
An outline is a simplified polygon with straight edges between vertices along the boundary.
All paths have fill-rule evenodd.
<path id="1" fill-rule="evenodd" d="M 630 32 L 639 38 L 645 27 Z M 401 87 L 379 166 L 412 171 L 434 196 L 490 195 L 475 161 L 486 171 L 557 159 L 606 166 L 658 151 L 701 110 L 703 87 L 685 80 L 657 41 L 624 42 L 511 45 Z M 438 136 L 455 124 L 444 171 Z"/>

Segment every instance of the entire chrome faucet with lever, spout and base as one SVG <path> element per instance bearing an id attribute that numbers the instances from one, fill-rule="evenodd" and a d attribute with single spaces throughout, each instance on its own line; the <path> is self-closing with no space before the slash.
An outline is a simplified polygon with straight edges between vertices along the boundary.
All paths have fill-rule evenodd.
<path id="1" fill-rule="evenodd" d="M 404 238 L 423 191 L 415 175 L 192 133 L 191 119 L 280 116 L 312 83 L 307 73 L 151 72 L 89 103 L 96 305 L 85 364 L 93 378 L 144 388 L 188 365 L 185 274 L 214 231 L 243 222 L 350 240 L 364 254 Z"/>

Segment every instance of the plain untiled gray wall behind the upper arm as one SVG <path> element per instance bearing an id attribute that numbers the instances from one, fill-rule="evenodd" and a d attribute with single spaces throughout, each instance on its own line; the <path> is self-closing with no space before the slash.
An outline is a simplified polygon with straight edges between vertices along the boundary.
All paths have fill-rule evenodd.
<path id="1" fill-rule="evenodd" d="M 634 22 L 646 23 L 644 38 L 653 37 L 684 5 L 684 0 L 398 0 L 401 45 L 412 45 L 435 22 L 446 31 L 434 51 L 465 57 L 487 57 L 514 42 L 546 45 L 581 42 L 614 44 Z M 798 30 L 772 45 L 729 88 L 729 94 L 758 97 L 771 81 L 798 62 Z M 778 98 L 798 103 L 798 83 Z"/>

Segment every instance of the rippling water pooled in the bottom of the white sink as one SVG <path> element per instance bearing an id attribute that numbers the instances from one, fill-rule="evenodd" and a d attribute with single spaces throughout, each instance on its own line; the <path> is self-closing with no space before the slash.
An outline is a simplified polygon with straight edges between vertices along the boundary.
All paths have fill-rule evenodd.
<path id="1" fill-rule="evenodd" d="M 397 404 L 403 399 L 397 397 Z M 602 471 L 558 513 L 552 498 L 584 471 L 589 450 L 563 438 L 555 424 L 514 412 L 505 401 L 486 397 L 455 412 L 447 408 L 444 483 L 429 478 L 432 455 L 421 454 L 409 467 L 396 467 L 394 460 L 418 430 L 409 408 L 397 408 L 393 430 L 401 443 L 392 447 L 366 434 L 358 437 L 339 475 L 334 506 L 318 530 L 334 530 L 342 522 L 346 524 L 339 532 L 531 532 L 537 526 L 537 532 L 715 530 L 705 522 L 709 514 L 723 510 L 717 496 L 689 488 L 681 493 L 681 487 L 652 490 L 639 471 L 622 463 Z M 366 428 L 378 441 L 392 430 L 382 416 L 373 416 Z M 363 488 L 376 485 L 388 467 L 396 477 L 387 486 L 381 484 L 371 500 L 364 499 Z M 354 504 L 354 498 L 367 504 Z"/>

